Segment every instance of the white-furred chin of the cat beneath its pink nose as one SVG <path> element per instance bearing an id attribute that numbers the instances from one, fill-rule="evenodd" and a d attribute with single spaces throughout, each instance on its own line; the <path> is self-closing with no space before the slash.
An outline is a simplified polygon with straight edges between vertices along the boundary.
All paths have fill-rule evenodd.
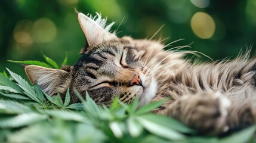
<path id="1" fill-rule="evenodd" d="M 143 87 L 143 92 L 138 100 L 138 107 L 148 104 L 155 96 L 158 89 L 158 83 L 152 77 L 149 85 Z"/>

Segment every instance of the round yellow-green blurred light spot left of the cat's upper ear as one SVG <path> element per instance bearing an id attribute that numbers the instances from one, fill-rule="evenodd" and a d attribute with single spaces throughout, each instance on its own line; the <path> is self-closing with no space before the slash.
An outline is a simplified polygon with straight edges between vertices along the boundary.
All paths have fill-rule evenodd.
<path id="1" fill-rule="evenodd" d="M 57 35 L 57 28 L 49 18 L 40 18 L 33 24 L 32 35 L 35 42 L 51 42 Z"/>

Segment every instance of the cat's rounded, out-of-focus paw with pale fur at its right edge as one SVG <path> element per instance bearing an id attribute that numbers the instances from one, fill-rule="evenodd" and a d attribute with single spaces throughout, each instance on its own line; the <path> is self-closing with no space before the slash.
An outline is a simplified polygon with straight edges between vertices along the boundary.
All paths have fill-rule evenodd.
<path id="1" fill-rule="evenodd" d="M 187 125 L 199 130 L 200 133 L 217 135 L 226 132 L 227 110 L 230 100 L 220 92 L 204 92 L 189 97 L 184 111 L 183 120 Z"/>

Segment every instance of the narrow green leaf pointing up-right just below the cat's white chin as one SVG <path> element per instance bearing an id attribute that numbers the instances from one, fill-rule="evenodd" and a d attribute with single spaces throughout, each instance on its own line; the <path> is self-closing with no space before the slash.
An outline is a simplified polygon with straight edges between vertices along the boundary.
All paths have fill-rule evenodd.
<path id="1" fill-rule="evenodd" d="M 150 102 L 147 105 L 144 105 L 143 107 L 139 108 L 137 111 L 135 111 L 135 114 L 145 114 L 148 113 L 149 111 L 154 110 L 155 108 L 161 106 L 162 104 L 164 104 L 164 102 L 166 102 L 167 99 L 165 100 L 161 100 L 161 101 L 154 101 L 154 102 Z"/>

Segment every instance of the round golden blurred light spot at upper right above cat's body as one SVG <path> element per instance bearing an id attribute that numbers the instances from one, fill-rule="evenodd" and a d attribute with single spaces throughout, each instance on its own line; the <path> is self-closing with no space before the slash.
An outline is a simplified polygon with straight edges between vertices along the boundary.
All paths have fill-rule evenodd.
<path id="1" fill-rule="evenodd" d="M 202 39 L 211 38 L 215 32 L 215 23 L 209 14 L 198 12 L 190 21 L 193 32 Z"/>

